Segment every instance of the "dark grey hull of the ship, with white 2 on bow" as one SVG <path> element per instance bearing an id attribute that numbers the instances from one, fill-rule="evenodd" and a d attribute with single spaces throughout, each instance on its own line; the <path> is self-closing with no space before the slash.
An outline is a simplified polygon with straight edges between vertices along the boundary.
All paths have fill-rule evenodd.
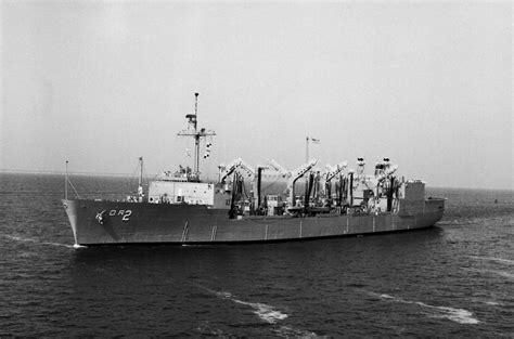
<path id="1" fill-rule="evenodd" d="M 227 209 L 65 199 L 77 245 L 257 243 L 419 230 L 442 218 L 445 200 L 426 199 L 420 211 L 314 217 L 253 216 L 229 219 Z"/>

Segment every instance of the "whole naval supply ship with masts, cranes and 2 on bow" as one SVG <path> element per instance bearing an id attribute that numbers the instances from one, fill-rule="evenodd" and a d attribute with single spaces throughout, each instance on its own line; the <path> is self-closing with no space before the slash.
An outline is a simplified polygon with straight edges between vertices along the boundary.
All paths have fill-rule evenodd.
<path id="1" fill-rule="evenodd" d="M 197 106 L 195 93 L 194 114 L 178 133 L 194 140 L 192 168 L 165 171 L 144 188 L 141 157 L 138 187 L 121 200 L 68 197 L 66 169 L 62 203 L 76 246 L 308 240 L 421 230 L 442 218 L 445 198 L 425 197 L 425 182 L 400 178 L 389 158 L 371 174 L 363 158 L 356 169 L 347 161 L 320 168 L 307 156 L 294 170 L 237 158 L 218 166 L 217 181 L 203 181 L 201 145 L 207 158 L 216 133 L 197 127 Z"/>

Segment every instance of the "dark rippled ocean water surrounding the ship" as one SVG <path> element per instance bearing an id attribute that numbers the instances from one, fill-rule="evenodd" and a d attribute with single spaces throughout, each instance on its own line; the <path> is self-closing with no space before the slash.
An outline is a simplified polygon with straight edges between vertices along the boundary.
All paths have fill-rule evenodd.
<path id="1" fill-rule="evenodd" d="M 63 195 L 62 175 L 0 173 L 2 338 L 514 337 L 513 191 L 428 187 L 446 214 L 410 233 L 79 249 Z"/>

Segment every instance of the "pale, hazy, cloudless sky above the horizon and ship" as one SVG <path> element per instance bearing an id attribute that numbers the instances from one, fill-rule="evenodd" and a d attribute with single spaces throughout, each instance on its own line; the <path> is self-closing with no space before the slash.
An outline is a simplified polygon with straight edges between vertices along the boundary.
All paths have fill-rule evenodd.
<path id="1" fill-rule="evenodd" d="M 0 170 L 201 171 L 383 157 L 514 190 L 510 1 L 1 1 Z"/>

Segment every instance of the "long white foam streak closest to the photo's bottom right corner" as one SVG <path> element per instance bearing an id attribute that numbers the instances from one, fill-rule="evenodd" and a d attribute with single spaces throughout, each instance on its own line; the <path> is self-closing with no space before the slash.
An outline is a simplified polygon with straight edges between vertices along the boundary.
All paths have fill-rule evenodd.
<path id="1" fill-rule="evenodd" d="M 408 303 L 408 304 L 416 304 L 419 307 L 422 307 L 424 309 L 431 310 L 433 313 L 427 313 L 428 317 L 435 317 L 435 318 L 448 318 L 452 322 L 459 323 L 459 324 L 478 324 L 479 321 L 472 317 L 473 313 L 464 310 L 464 309 L 453 309 L 453 308 L 448 308 L 448 307 L 435 307 L 431 305 L 421 301 L 410 301 L 410 300 L 404 300 L 398 297 L 385 295 L 385 294 L 375 294 L 372 291 L 363 290 L 362 291 L 367 292 L 370 296 L 378 297 L 384 300 L 393 301 L 393 302 L 400 302 L 400 303 Z"/>

